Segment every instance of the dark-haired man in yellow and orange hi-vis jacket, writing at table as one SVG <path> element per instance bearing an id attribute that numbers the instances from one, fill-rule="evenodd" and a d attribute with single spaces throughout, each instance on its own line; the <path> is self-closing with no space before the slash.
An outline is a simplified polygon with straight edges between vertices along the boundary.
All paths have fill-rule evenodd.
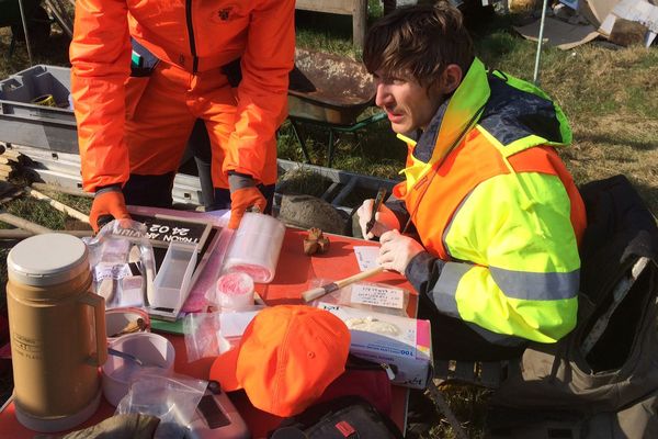
<path id="1" fill-rule="evenodd" d="M 372 229 L 366 200 L 360 223 L 379 236 L 378 262 L 418 291 L 434 356 L 496 360 L 564 337 L 576 324 L 586 213 L 556 153 L 571 142 L 559 106 L 487 70 L 443 2 L 383 18 L 363 58 L 408 156 L 394 200 Z"/>

